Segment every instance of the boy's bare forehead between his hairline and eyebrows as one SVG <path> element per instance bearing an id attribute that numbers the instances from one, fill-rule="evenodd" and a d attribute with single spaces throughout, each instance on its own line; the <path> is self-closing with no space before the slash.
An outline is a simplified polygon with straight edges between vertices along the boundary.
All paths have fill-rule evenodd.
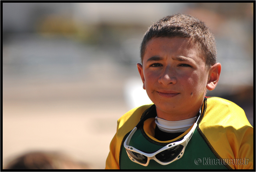
<path id="1" fill-rule="evenodd" d="M 157 37 L 148 41 L 143 62 L 152 56 L 165 57 L 166 55 L 185 56 L 194 60 L 202 60 L 205 58 L 202 55 L 201 48 L 197 43 L 193 43 L 190 39 L 180 37 Z"/>

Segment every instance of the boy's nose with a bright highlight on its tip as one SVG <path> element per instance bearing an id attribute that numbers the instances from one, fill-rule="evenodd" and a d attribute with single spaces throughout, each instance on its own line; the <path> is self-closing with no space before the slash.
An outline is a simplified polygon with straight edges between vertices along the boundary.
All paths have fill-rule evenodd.
<path id="1" fill-rule="evenodd" d="M 158 78 L 158 82 L 163 85 L 176 84 L 177 78 L 175 70 L 171 67 L 165 67 Z"/>

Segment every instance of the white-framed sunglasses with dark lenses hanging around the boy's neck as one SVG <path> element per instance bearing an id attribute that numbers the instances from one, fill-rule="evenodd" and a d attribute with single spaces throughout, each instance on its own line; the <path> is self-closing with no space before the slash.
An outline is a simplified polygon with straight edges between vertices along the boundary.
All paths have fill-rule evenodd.
<path id="1" fill-rule="evenodd" d="M 130 140 L 135 131 L 137 130 L 137 127 L 135 127 L 124 142 L 124 148 L 126 149 L 126 153 L 131 161 L 143 166 L 147 166 L 150 159 L 154 159 L 161 165 L 170 164 L 180 159 L 184 155 L 185 148 L 197 128 L 197 122 L 199 121 L 199 119 L 200 115 L 198 116 L 197 121 L 193 125 L 192 129 L 186 134 L 186 136 L 184 136 L 181 141 L 167 144 L 163 148 L 153 153 L 145 153 L 132 146 L 129 146 Z"/>

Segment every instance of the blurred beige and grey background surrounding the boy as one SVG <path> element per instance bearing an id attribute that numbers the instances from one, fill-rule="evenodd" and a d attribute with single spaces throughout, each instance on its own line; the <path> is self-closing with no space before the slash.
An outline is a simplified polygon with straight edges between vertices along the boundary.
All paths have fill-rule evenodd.
<path id="1" fill-rule="evenodd" d="M 60 151 L 105 168 L 116 121 L 150 103 L 136 63 L 143 34 L 175 13 L 216 36 L 220 81 L 207 96 L 244 109 L 253 126 L 253 3 L 2 3 L 3 166 Z"/>

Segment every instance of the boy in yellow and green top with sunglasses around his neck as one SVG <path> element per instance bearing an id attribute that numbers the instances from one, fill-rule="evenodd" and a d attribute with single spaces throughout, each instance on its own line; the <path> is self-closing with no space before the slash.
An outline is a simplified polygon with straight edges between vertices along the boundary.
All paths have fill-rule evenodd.
<path id="1" fill-rule="evenodd" d="M 154 104 L 118 120 L 106 169 L 253 168 L 253 128 L 244 111 L 218 97 L 221 71 L 210 30 L 189 15 L 154 23 L 137 68 Z"/>

